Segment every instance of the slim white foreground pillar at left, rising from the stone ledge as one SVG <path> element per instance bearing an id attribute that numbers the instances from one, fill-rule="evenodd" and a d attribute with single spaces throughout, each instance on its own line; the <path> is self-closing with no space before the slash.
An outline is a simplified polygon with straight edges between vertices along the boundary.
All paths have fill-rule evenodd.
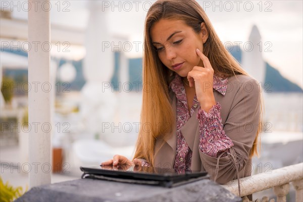
<path id="1" fill-rule="evenodd" d="M 43 0 L 44 10 L 49 1 Z M 33 0 L 29 0 L 34 5 Z M 41 2 L 40 2 L 41 5 Z M 28 53 L 28 114 L 31 130 L 29 133 L 29 186 L 34 187 L 51 183 L 51 76 L 50 76 L 50 41 L 49 12 L 42 7 L 28 11 L 28 41 L 38 43 L 37 49 Z M 42 45 L 44 44 L 44 46 Z M 34 47 L 32 45 L 32 47 Z M 37 127 L 35 127 L 37 126 Z"/>

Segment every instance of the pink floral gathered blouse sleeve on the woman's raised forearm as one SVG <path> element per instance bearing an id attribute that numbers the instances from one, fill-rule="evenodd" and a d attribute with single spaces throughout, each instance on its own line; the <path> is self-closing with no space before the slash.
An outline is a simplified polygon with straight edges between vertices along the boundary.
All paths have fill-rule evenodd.
<path id="1" fill-rule="evenodd" d="M 221 105 L 217 102 L 209 113 L 199 108 L 197 119 L 199 121 L 199 150 L 211 157 L 218 157 L 218 154 L 225 153 L 233 143 L 226 136 L 222 125 L 220 110 Z M 224 154 L 226 156 L 226 154 Z"/>

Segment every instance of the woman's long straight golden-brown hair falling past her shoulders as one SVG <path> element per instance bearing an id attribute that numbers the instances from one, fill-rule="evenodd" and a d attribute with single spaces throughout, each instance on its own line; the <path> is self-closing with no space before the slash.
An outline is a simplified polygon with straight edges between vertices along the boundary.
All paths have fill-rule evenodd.
<path id="1" fill-rule="evenodd" d="M 134 158 L 145 159 L 151 166 L 154 165 L 156 139 L 167 132 L 168 125 L 169 128 L 175 127 L 173 126 L 175 117 L 168 94 L 169 83 L 175 73 L 160 61 L 151 43 L 149 32 L 151 26 L 161 19 L 183 20 L 196 33 L 200 32 L 200 25 L 205 22 L 209 37 L 203 45 L 203 53 L 209 58 L 214 73 L 223 77 L 247 75 L 225 49 L 206 13 L 196 1 L 158 0 L 155 2 L 145 18 L 141 125 L 134 155 Z M 260 123 L 250 157 L 258 155 L 257 144 L 260 141 L 262 117 L 260 117 Z"/>

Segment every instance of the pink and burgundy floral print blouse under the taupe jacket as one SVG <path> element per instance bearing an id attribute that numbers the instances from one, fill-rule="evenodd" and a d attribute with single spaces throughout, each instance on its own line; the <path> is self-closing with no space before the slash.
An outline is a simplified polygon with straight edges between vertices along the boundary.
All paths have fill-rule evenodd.
<path id="1" fill-rule="evenodd" d="M 177 98 L 177 147 L 173 168 L 177 173 L 184 173 L 185 171 L 190 170 L 192 151 L 186 143 L 180 129 L 193 115 L 197 107 L 198 112 L 196 114 L 196 118 L 199 121 L 200 151 L 206 155 L 217 158 L 218 155 L 224 153 L 228 148 L 233 146 L 233 143 L 231 139 L 225 135 L 223 130 L 220 115 L 221 105 L 218 102 L 210 109 L 209 113 L 206 113 L 199 107 L 200 104 L 195 95 L 189 112 L 185 88 L 181 77 L 178 74 L 176 74 L 175 78 L 171 81 L 170 88 Z M 227 89 L 227 78 L 224 79 L 214 75 L 213 88 L 225 95 Z M 148 163 L 143 161 L 142 166 L 148 166 Z"/>

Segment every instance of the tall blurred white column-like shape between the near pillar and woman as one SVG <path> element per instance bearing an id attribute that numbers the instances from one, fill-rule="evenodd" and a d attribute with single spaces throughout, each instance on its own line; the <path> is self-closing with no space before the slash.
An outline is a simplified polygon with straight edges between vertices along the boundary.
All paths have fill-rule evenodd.
<path id="1" fill-rule="evenodd" d="M 86 80 L 81 92 L 81 115 L 86 125 L 86 136 L 93 138 L 102 133 L 103 123 L 115 119 L 117 96 L 112 91 L 114 73 L 113 39 L 109 33 L 107 11 L 103 1 L 87 1 L 89 20 L 85 33 L 86 56 L 83 74 Z M 111 130 L 107 130 L 111 131 Z M 87 137 L 88 137 L 87 136 Z M 112 138 L 108 132 L 107 137 Z"/>

